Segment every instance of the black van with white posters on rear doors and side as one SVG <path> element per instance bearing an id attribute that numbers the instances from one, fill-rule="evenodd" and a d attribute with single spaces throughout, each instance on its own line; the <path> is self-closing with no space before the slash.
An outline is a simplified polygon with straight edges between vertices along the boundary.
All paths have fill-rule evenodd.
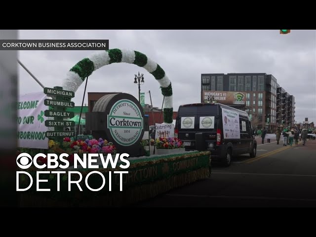
<path id="1" fill-rule="evenodd" d="M 235 155 L 249 154 L 255 158 L 257 154 L 248 114 L 220 103 L 181 105 L 175 131 L 186 151 L 210 151 L 212 160 L 226 166 Z"/>

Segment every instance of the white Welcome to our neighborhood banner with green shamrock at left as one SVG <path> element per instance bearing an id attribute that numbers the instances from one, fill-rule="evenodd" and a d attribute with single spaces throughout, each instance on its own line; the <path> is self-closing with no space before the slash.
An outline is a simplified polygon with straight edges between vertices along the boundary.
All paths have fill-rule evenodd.
<path id="1" fill-rule="evenodd" d="M 44 92 L 20 95 L 17 102 L 18 147 L 48 149 Z"/>

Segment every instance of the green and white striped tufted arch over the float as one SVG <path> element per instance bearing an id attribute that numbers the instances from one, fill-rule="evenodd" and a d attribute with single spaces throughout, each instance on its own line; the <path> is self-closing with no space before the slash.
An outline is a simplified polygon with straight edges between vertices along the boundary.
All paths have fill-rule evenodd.
<path id="1" fill-rule="evenodd" d="M 164 96 L 163 121 L 165 123 L 172 123 L 173 101 L 171 81 L 156 62 L 138 51 L 114 48 L 96 52 L 82 59 L 67 73 L 67 77 L 64 79 L 62 85 L 63 89 L 76 92 L 82 82 L 95 70 L 112 63 L 135 64 L 152 74 L 159 82 L 161 93 Z"/>

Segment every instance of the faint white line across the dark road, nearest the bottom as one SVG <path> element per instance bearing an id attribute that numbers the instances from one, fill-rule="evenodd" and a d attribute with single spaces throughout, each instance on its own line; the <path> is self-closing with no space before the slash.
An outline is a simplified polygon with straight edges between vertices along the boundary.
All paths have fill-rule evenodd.
<path id="1" fill-rule="evenodd" d="M 206 198 L 239 198 L 239 199 L 258 199 L 258 200 L 283 200 L 283 201 L 316 201 L 310 198 L 286 198 L 286 197 L 256 197 L 256 196 L 211 196 L 211 195 L 189 195 L 189 194 L 166 194 L 172 197 L 206 197 Z"/>

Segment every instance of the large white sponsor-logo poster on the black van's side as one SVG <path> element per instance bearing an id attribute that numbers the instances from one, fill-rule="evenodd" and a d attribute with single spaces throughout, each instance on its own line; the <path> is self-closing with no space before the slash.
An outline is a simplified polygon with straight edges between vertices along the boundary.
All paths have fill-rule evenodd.
<path id="1" fill-rule="evenodd" d="M 239 139 L 239 113 L 222 108 L 224 139 Z"/>

